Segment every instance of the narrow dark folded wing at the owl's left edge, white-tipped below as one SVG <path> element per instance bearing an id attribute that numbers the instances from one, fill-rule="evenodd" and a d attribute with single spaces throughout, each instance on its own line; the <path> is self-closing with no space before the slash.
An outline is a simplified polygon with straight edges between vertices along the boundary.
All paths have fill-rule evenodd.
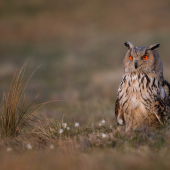
<path id="1" fill-rule="evenodd" d="M 123 125 L 124 124 L 124 117 L 121 111 L 121 106 L 119 103 L 119 98 L 117 98 L 115 103 L 115 116 L 118 124 Z"/>

